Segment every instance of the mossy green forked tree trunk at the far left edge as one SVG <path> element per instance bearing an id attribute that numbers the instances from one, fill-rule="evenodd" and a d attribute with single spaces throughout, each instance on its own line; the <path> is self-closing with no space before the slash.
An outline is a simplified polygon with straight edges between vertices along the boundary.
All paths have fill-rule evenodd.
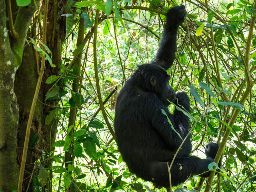
<path id="1" fill-rule="evenodd" d="M 36 8 L 34 3 L 18 8 L 14 23 L 15 38 L 8 33 L 6 8 L 6 2 L 0 1 L 0 190 L 12 191 L 18 186 L 16 148 L 19 109 L 14 78 L 22 61 L 25 39 Z"/>

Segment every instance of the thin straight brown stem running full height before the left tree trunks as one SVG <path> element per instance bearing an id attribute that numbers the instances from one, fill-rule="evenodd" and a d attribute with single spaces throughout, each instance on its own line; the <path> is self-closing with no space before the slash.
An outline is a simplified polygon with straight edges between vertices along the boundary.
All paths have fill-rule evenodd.
<path id="1" fill-rule="evenodd" d="M 43 40 L 42 40 L 44 44 L 46 44 L 47 11 L 48 11 L 48 0 L 45 0 L 44 1 L 44 20 L 43 20 L 44 28 L 43 28 Z M 44 46 L 42 46 L 42 49 L 45 51 Z M 36 85 L 34 98 L 33 98 L 33 101 L 32 101 L 31 108 L 30 108 L 30 113 L 29 113 L 29 117 L 28 117 L 28 125 L 27 125 L 27 128 L 26 128 L 26 136 L 25 136 L 24 148 L 23 148 L 23 152 L 22 152 L 22 161 L 21 161 L 21 165 L 20 165 L 18 192 L 22 191 L 22 182 L 23 182 L 23 175 L 24 175 L 25 163 L 26 163 L 27 152 L 28 152 L 28 142 L 29 142 L 29 136 L 30 136 L 30 128 L 31 128 L 32 119 L 33 119 L 33 116 L 34 116 L 34 110 L 35 110 L 35 107 L 36 107 L 36 101 L 37 101 L 38 93 L 39 93 L 39 90 L 40 90 L 40 85 L 41 85 L 42 78 L 43 78 L 43 75 L 44 75 L 44 66 L 45 66 L 45 56 L 42 56 L 41 68 L 40 68 L 40 72 L 39 72 L 39 76 L 38 76 L 38 81 L 37 81 L 37 85 Z"/>

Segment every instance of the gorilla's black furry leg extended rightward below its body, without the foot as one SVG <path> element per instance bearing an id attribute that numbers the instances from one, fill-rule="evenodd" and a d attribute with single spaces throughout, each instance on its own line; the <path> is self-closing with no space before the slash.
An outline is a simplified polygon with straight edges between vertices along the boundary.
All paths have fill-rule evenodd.
<path id="1" fill-rule="evenodd" d="M 172 186 L 176 186 L 185 182 L 190 176 L 202 174 L 208 171 L 208 164 L 212 162 L 211 159 L 200 159 L 196 156 L 176 157 L 171 168 Z M 169 162 L 169 166 L 171 161 Z M 204 173 L 201 176 L 207 177 L 210 172 Z M 157 187 L 170 186 L 169 173 L 167 162 L 151 162 L 148 168 L 146 180 L 153 182 Z"/>

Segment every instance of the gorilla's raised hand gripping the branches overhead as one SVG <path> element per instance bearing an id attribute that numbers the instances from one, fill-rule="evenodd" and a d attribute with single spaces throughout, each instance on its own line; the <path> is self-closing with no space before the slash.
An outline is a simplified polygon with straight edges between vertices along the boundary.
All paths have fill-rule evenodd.
<path id="1" fill-rule="evenodd" d="M 186 15 L 184 5 L 170 8 L 166 13 L 166 28 L 178 28 L 184 22 Z"/>

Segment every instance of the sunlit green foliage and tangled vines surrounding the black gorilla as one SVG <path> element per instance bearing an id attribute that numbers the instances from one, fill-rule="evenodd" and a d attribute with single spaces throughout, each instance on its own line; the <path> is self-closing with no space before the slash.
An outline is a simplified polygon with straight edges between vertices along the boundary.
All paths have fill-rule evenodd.
<path id="1" fill-rule="evenodd" d="M 67 13 L 62 15 L 66 17 L 62 63 L 58 75 L 49 76 L 45 81 L 52 88 L 44 102 L 59 99 L 59 107 L 48 111 L 44 122 L 48 125 L 58 120 L 57 140 L 49 156 L 52 165 L 46 167 L 44 158 L 38 155 L 38 171 L 32 181 L 35 191 L 44 189 L 49 179 L 53 188 L 58 189 L 56 191 L 161 191 L 130 173 L 118 153 L 110 128 L 113 127 L 117 90 L 138 65 L 154 58 L 164 22 L 164 15 L 160 13 L 177 4 L 180 2 L 68 0 Z M 225 131 L 230 130 L 221 158 L 222 174 L 214 179 L 211 188 L 224 192 L 255 191 L 255 30 L 250 42 L 248 68 L 245 55 L 249 26 L 256 9 L 251 0 L 233 3 L 187 0 L 185 6 L 188 15 L 178 34 L 177 60 L 168 73 L 172 76 L 170 84 L 174 90 L 190 95 L 192 110 L 188 115 L 193 152 L 204 157 L 200 151 L 206 143 L 220 143 Z M 96 9 L 100 10 L 100 18 L 95 50 L 92 29 Z M 81 18 L 84 19 L 86 35 L 84 41 L 78 44 Z M 47 53 L 41 51 L 41 47 L 47 45 L 33 39 L 31 42 L 40 54 L 46 54 L 51 63 L 49 50 L 46 48 Z M 100 112 L 94 51 L 97 51 L 100 94 L 110 125 Z M 80 68 L 74 63 L 79 53 L 82 53 Z M 74 83 L 75 78 L 79 79 L 78 83 Z M 250 78 L 250 84 L 246 78 Z M 78 91 L 74 91 L 74 84 L 78 85 Z M 248 87 L 249 96 L 241 104 Z M 72 108 L 76 108 L 76 119 L 69 126 L 69 110 Z M 236 109 L 240 111 L 232 125 L 230 120 Z M 30 143 L 32 147 L 35 146 L 35 138 Z M 66 161 L 64 152 L 69 152 L 72 160 Z M 201 187 L 204 190 L 206 184 L 199 188 L 198 183 L 199 178 L 195 176 L 184 183 L 186 188 L 177 186 L 173 190 L 195 191 Z"/>

